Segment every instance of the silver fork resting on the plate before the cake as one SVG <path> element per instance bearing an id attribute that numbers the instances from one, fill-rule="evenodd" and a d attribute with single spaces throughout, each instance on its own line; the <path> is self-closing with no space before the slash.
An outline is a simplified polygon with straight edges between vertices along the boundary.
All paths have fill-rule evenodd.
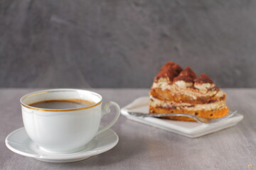
<path id="1" fill-rule="evenodd" d="M 156 114 L 149 114 L 149 113 L 139 113 L 139 112 L 129 112 L 128 113 L 130 115 L 134 115 L 134 116 L 139 116 L 139 117 L 152 117 L 152 118 L 161 118 L 161 117 L 166 117 L 166 116 L 185 116 L 188 118 L 193 118 L 194 120 L 196 120 L 198 123 L 201 124 L 213 124 L 213 123 L 219 123 L 222 120 L 225 120 L 227 118 L 230 118 L 231 116 L 233 116 L 235 113 L 237 113 L 238 111 L 233 111 L 232 113 L 228 113 L 228 115 L 225 115 L 222 118 L 202 118 L 200 116 L 196 116 L 196 115 L 188 115 L 188 114 L 183 114 L 183 113 L 156 113 Z"/>

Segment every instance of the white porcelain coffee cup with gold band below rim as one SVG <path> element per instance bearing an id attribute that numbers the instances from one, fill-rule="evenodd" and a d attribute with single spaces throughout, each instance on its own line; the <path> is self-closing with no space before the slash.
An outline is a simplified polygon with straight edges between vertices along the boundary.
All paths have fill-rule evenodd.
<path id="1" fill-rule="evenodd" d="M 47 109 L 29 106 L 31 103 L 58 99 L 83 99 L 95 104 L 84 108 Z M 102 96 L 82 89 L 50 89 L 26 94 L 21 98 L 23 124 L 28 136 L 40 149 L 55 154 L 78 152 L 93 137 L 110 128 L 119 118 L 117 103 L 106 103 L 102 109 Z M 104 128 L 100 128 L 102 115 L 114 106 L 116 115 Z"/>

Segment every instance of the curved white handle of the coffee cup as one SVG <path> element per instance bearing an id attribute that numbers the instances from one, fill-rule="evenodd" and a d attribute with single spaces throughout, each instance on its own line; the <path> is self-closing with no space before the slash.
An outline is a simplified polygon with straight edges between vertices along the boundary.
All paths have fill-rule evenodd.
<path id="1" fill-rule="evenodd" d="M 114 119 L 105 127 L 101 128 L 96 135 L 100 134 L 101 132 L 104 132 L 105 130 L 107 130 L 108 128 L 112 127 L 112 125 L 114 125 L 114 123 L 117 121 L 117 119 L 119 118 L 120 115 L 120 107 L 117 103 L 110 101 L 108 103 L 105 104 L 105 106 L 102 109 L 102 116 L 106 115 L 107 113 L 110 113 L 110 106 L 114 106 L 115 110 L 116 110 L 116 115 L 114 116 Z"/>

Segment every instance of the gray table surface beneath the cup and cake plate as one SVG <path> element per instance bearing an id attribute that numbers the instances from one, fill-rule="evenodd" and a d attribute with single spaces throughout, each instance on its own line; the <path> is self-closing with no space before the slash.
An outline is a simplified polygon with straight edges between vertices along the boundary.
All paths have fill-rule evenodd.
<path id="1" fill-rule="evenodd" d="M 19 98 L 38 89 L 0 89 L 0 169 L 255 169 L 256 89 L 223 89 L 231 110 L 245 117 L 233 128 L 191 139 L 120 116 L 112 130 L 119 143 L 108 152 L 81 162 L 40 162 L 11 152 L 7 135 L 23 126 Z M 149 89 L 92 89 L 103 101 L 126 106 Z M 102 123 L 110 119 L 105 118 Z M 248 164 L 254 167 L 248 167 Z"/>

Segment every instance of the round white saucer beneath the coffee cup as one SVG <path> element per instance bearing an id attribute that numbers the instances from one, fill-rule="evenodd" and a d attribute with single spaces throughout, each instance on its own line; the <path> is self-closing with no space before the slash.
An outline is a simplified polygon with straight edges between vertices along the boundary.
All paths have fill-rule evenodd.
<path id="1" fill-rule="evenodd" d="M 106 130 L 90 141 L 84 149 L 71 154 L 43 152 L 27 135 L 25 128 L 14 130 L 6 137 L 6 147 L 12 152 L 43 162 L 77 162 L 101 154 L 117 145 L 119 138 L 113 130 Z"/>

